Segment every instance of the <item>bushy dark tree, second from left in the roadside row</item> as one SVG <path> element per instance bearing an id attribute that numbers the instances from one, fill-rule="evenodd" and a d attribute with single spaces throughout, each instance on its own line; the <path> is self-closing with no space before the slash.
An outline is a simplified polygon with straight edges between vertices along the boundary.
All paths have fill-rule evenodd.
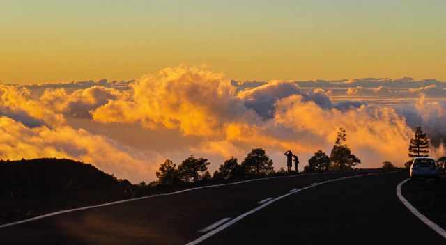
<path id="1" fill-rule="evenodd" d="M 208 171 L 208 159 L 195 158 L 194 156 L 187 157 L 180 166 L 178 166 L 178 173 L 180 180 L 185 182 L 198 182 L 203 179 L 203 175 Z M 201 173 L 201 175 L 200 175 Z"/>

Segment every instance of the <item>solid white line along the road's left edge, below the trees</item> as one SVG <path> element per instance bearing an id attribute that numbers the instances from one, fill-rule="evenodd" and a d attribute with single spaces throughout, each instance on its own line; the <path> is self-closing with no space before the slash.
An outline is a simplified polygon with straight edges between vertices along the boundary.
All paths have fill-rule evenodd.
<path id="1" fill-rule="evenodd" d="M 228 185 L 243 184 L 243 183 L 254 182 L 254 181 L 259 181 L 259 180 L 272 180 L 272 179 L 278 179 L 278 178 L 291 178 L 291 177 L 300 177 L 300 176 L 307 176 L 307 175 L 320 175 L 320 174 L 324 174 L 324 173 L 304 173 L 304 174 L 298 174 L 298 175 L 263 177 L 263 178 L 259 178 L 259 179 L 242 180 L 242 181 L 231 182 L 231 183 L 226 183 L 226 184 L 211 184 L 211 185 L 206 185 L 206 186 L 203 186 L 203 187 L 194 187 L 194 188 L 190 188 L 190 189 L 183 189 L 183 190 L 180 190 L 180 191 L 174 191 L 174 192 L 169 192 L 169 193 L 161 193 L 161 194 L 154 194 L 154 195 L 149 195 L 149 196 L 141 196 L 139 198 L 130 198 L 130 199 L 125 199 L 125 200 L 117 200 L 117 201 L 114 201 L 114 202 L 111 202 L 111 203 L 102 203 L 102 204 L 99 204 L 99 205 L 91 205 L 91 206 L 86 206 L 86 207 L 76 207 L 76 208 L 72 208 L 72 209 L 69 209 L 69 210 L 61 210 L 61 211 L 57 211 L 57 212 L 51 212 L 51 213 L 48 213 L 48 214 L 43 214 L 43 215 L 32 217 L 30 219 L 24 219 L 24 220 L 21 220 L 21 221 L 14 221 L 14 222 L 11 222 L 11 223 L 4 223 L 4 224 L 0 225 L 0 228 L 5 228 L 5 227 L 8 227 L 8 226 L 16 226 L 16 225 L 18 225 L 20 223 L 36 221 L 38 219 L 43 219 L 43 218 L 47 218 L 47 217 L 55 216 L 55 215 L 59 215 L 59 214 L 65 214 L 65 213 L 68 213 L 68 212 L 75 212 L 75 211 L 80 211 L 80 210 L 90 210 L 90 209 L 95 208 L 95 207 L 104 207 L 104 206 L 115 205 L 115 204 L 119 204 L 119 203 L 127 203 L 127 202 L 131 202 L 131 201 L 134 201 L 134 200 L 143 200 L 143 199 L 147 199 L 147 198 L 155 198 L 157 196 L 170 196 L 170 195 L 175 195 L 175 194 L 178 194 L 178 193 L 184 193 L 184 192 L 187 192 L 187 191 L 194 191 L 194 190 L 197 190 L 197 189 L 205 189 L 205 188 L 212 188 L 212 187 L 224 187 L 224 186 L 228 186 Z"/>

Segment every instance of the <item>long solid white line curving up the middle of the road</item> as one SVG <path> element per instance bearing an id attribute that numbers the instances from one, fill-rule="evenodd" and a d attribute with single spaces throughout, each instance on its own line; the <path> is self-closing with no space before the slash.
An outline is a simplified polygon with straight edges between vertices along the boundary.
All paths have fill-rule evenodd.
<path id="1" fill-rule="evenodd" d="M 374 174 L 364 174 L 364 175 L 353 175 L 353 176 L 351 176 L 351 177 L 348 177 L 348 179 L 353 179 L 353 178 L 355 178 L 355 177 L 365 177 L 365 176 L 371 176 L 371 175 L 384 175 L 384 174 L 388 174 L 388 173 L 400 173 L 400 172 L 403 172 L 403 171 L 392 171 L 392 172 L 385 172 L 385 173 L 374 173 Z M 254 208 L 253 210 L 249 210 L 248 212 L 245 212 L 245 213 L 243 213 L 243 214 L 240 214 L 239 216 L 237 216 L 236 218 L 232 219 L 231 221 L 224 223 L 222 226 L 218 227 L 218 228 L 215 229 L 215 230 L 211 230 L 210 232 L 208 232 L 208 233 L 202 235 L 201 237 L 195 239 L 194 241 L 192 241 L 192 242 L 188 242 L 186 245 L 197 245 L 197 244 L 199 244 L 200 242 L 203 242 L 204 240 L 208 239 L 209 237 L 212 237 L 213 235 L 217 234 L 218 232 L 220 232 L 220 231 L 222 231 L 222 230 L 228 228 L 229 226 L 232 226 L 234 223 L 237 223 L 238 221 L 240 221 L 241 219 L 245 218 L 245 217 L 248 216 L 249 214 L 254 214 L 255 212 L 257 212 L 257 211 L 259 211 L 259 210 L 262 210 L 263 208 L 267 207 L 267 206 L 270 205 L 271 203 L 275 203 L 275 202 L 277 202 L 278 200 L 281 200 L 282 198 L 286 198 L 287 196 L 291 196 L 291 195 L 293 195 L 293 194 L 295 194 L 295 193 L 299 193 L 300 191 L 303 191 L 303 190 L 305 190 L 305 189 L 311 189 L 311 188 L 314 188 L 314 187 L 316 187 L 316 186 L 318 186 L 318 185 L 321 185 L 321 184 L 327 184 L 327 183 L 330 183 L 330 182 L 337 182 L 337 181 L 340 181 L 340 180 L 346 180 L 346 179 L 347 179 L 346 177 L 340 177 L 340 178 L 338 178 L 338 179 L 325 180 L 325 181 L 323 181 L 323 182 L 318 182 L 317 184 L 309 185 L 309 186 L 307 186 L 307 187 L 302 187 L 302 188 L 300 188 L 300 189 L 297 189 L 296 191 L 289 192 L 289 193 L 286 193 L 286 194 L 284 194 L 284 195 L 282 195 L 282 196 L 279 196 L 279 197 L 277 197 L 277 198 L 274 198 L 274 199 L 272 199 L 272 200 L 269 200 L 268 202 L 263 203 L 263 205 L 260 205 L 259 207 L 256 207 L 256 208 Z"/>

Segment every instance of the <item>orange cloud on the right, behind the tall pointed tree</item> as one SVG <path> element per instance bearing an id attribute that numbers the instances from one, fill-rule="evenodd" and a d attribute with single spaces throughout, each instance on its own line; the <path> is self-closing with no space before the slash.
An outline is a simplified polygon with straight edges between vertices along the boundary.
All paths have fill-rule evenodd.
<path id="1" fill-rule="evenodd" d="M 412 134 L 404 118 L 394 109 L 362 106 L 348 111 L 324 110 L 314 102 L 303 102 L 298 95 L 277 103 L 275 121 L 298 135 L 307 132 L 312 138 L 320 139 L 316 145 L 332 145 L 337 129 L 344 127 L 348 132 L 347 143 L 354 151 L 374 156 L 366 161 L 372 166 L 384 159 L 397 162 L 405 159 L 405 155 L 396 152 L 406 150 Z"/>

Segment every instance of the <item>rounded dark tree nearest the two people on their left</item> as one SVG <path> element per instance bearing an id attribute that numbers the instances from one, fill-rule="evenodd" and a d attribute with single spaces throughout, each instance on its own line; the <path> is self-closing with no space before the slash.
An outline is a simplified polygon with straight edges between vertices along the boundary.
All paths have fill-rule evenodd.
<path id="1" fill-rule="evenodd" d="M 249 175 L 268 175 L 274 171 L 272 159 L 262 148 L 252 149 L 243 160 L 242 166 Z"/>

